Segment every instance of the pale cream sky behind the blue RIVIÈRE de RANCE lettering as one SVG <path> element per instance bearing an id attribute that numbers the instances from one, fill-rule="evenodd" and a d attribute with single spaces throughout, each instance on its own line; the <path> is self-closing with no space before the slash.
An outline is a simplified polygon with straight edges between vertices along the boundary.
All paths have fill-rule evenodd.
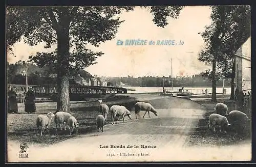
<path id="1" fill-rule="evenodd" d="M 191 76 L 210 69 L 198 61 L 198 54 L 204 47 L 199 32 L 211 23 L 208 6 L 186 6 L 177 19 L 168 18 L 164 28 L 153 23 L 153 15 L 147 9 L 136 7 L 134 11 L 120 14 L 121 23 L 118 33 L 111 41 L 99 47 L 88 46 L 88 49 L 102 51 L 97 64 L 87 67 L 86 71 L 98 76 L 169 76 L 171 59 L 173 76 Z M 146 45 L 117 45 L 117 40 L 147 40 Z M 177 45 L 149 45 L 149 41 L 175 40 Z M 183 41 L 183 45 L 179 45 Z M 56 46 L 55 46 L 56 47 Z M 28 60 L 29 55 L 41 51 L 52 51 L 55 48 L 44 48 L 44 43 L 29 46 L 23 41 L 13 47 L 14 58 L 7 55 L 9 63 Z"/>

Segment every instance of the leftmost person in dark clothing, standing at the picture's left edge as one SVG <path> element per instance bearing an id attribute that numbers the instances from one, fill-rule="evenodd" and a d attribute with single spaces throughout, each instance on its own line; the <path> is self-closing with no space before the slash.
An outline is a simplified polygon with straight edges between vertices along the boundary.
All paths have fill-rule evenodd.
<path id="1" fill-rule="evenodd" d="M 8 113 L 18 113 L 18 103 L 16 99 L 16 92 L 14 91 L 13 87 L 10 87 L 8 91 Z"/>

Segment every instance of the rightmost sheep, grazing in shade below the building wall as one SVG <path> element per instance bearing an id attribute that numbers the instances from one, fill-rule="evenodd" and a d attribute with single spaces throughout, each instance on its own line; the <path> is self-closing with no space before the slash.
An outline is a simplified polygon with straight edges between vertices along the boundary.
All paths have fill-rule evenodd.
<path id="1" fill-rule="evenodd" d="M 228 114 L 227 119 L 232 127 L 236 128 L 238 131 L 243 131 L 242 129 L 245 128 L 250 121 L 249 117 L 239 110 L 232 110 Z"/>

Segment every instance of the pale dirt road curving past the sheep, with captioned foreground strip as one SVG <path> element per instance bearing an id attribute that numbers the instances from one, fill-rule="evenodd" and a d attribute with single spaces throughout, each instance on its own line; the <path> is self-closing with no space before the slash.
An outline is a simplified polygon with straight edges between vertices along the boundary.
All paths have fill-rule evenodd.
<path id="1" fill-rule="evenodd" d="M 237 147 L 186 147 L 187 136 L 198 126 L 204 107 L 186 99 L 154 95 L 131 95 L 151 102 L 158 116 L 145 119 L 125 118 L 118 124 L 104 126 L 104 132 L 78 135 L 48 147 L 30 145 L 29 158 L 19 158 L 19 144 L 8 142 L 10 161 L 199 161 L 241 158 Z M 143 117 L 144 112 L 139 113 Z M 40 137 L 40 136 L 38 136 Z M 132 146 L 132 147 L 131 147 Z M 209 149 L 211 152 L 209 154 Z M 239 147 L 248 152 L 248 147 Z M 244 150 L 243 150 L 244 149 Z M 232 153 L 232 154 L 230 154 Z M 223 156 L 225 155 L 225 156 Z M 230 157 L 231 155 L 231 157 Z M 231 159 L 230 159 L 231 158 Z M 242 157 L 244 159 L 244 157 Z"/>

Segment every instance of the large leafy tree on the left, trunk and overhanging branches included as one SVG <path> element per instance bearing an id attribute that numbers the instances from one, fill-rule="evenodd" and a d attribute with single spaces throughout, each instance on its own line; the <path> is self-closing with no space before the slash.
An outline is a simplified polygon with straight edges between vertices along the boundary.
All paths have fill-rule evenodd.
<path id="1" fill-rule="evenodd" d="M 123 22 L 118 17 L 122 11 L 135 7 L 9 7 L 7 9 L 7 46 L 22 38 L 29 45 L 46 43 L 46 48 L 57 44 L 53 52 L 40 52 L 30 56 L 39 67 L 46 65 L 57 71 L 57 110 L 69 111 L 69 73 L 96 63 L 103 53 L 87 48 L 98 47 L 112 40 Z M 146 7 L 154 15 L 157 26 L 167 25 L 167 17 L 177 18 L 182 7 Z"/>

